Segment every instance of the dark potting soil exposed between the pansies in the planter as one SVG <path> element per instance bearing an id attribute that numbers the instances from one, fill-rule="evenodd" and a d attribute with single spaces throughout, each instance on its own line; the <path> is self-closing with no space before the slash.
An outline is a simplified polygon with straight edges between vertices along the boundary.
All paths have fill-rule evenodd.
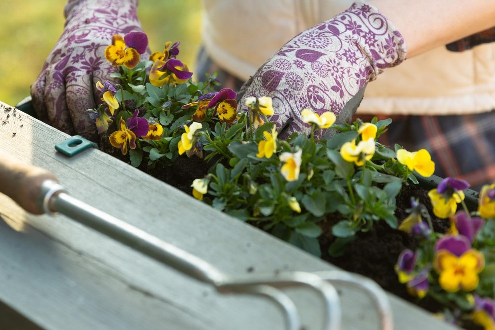
<path id="1" fill-rule="evenodd" d="M 101 136 L 100 149 L 130 164 L 129 156 L 122 155 L 120 149 L 114 148 L 108 142 L 110 134 L 109 131 Z M 146 161 L 139 166 L 142 171 L 189 195 L 192 195 L 192 181 L 204 177 L 207 174 L 207 168 L 208 166 L 202 159 L 185 156 L 179 157 L 171 166 L 156 164 L 154 168 L 151 168 L 147 166 Z M 418 198 L 420 203 L 426 206 L 429 214 L 433 214 L 427 194 L 428 191 L 415 184 L 402 188 L 402 192 L 396 199 L 395 216 L 399 224 L 409 215 L 405 210 L 411 207 L 411 197 Z M 414 250 L 417 247 L 417 241 L 411 235 L 390 228 L 384 221 L 377 221 L 370 231 L 358 233 L 357 239 L 347 245 L 342 256 L 332 257 L 328 254 L 328 247 L 335 240 L 331 227 L 340 220 L 338 215 L 331 215 L 319 223 L 323 229 L 323 234 L 319 238 L 323 260 L 346 271 L 364 275 L 377 282 L 386 291 L 430 312 L 441 311 L 441 305 L 436 301 L 428 297 L 423 299 L 412 297 L 407 293 L 405 285 L 398 282 L 394 267 L 400 252 L 406 248 Z M 433 218 L 432 222 L 437 232 L 445 232 L 450 227 L 447 219 Z M 469 325 L 466 328 L 476 329 L 477 327 Z"/>

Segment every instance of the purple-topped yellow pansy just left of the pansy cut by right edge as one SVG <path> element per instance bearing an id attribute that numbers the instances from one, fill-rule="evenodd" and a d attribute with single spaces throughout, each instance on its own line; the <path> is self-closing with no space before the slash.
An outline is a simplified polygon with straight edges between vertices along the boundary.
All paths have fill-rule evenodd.
<path id="1" fill-rule="evenodd" d="M 464 180 L 447 177 L 443 179 L 436 189 L 428 192 L 428 196 L 433 205 L 433 213 L 440 219 L 453 216 L 457 211 L 457 204 L 464 200 L 465 195 L 462 190 L 469 187 L 469 183 Z"/>

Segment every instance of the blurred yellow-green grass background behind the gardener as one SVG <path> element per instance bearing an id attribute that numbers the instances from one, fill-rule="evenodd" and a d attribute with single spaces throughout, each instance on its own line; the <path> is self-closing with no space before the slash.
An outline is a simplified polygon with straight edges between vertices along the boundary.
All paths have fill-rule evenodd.
<path id="1" fill-rule="evenodd" d="M 1 0 L 0 101 L 15 105 L 63 31 L 66 0 Z M 138 15 L 152 51 L 180 41 L 179 59 L 192 72 L 200 46 L 201 0 L 140 0 Z"/>

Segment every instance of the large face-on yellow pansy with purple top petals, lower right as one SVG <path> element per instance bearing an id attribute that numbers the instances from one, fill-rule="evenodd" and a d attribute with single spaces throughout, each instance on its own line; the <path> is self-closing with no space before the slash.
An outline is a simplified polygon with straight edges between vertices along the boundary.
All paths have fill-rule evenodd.
<path id="1" fill-rule="evenodd" d="M 436 242 L 433 267 L 440 275 L 441 288 L 447 292 L 474 290 L 484 263 L 484 255 L 471 248 L 466 236 L 445 235 Z"/>

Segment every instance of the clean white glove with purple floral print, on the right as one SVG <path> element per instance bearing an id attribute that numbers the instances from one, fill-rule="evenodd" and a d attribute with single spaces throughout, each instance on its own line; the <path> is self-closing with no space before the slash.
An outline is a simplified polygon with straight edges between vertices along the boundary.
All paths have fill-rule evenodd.
<path id="1" fill-rule="evenodd" d="M 240 110 L 247 109 L 246 97 L 269 96 L 275 112 L 270 120 L 282 130 L 280 137 L 309 134 L 303 109 L 331 111 L 337 123 L 349 121 L 366 83 L 405 57 L 404 40 L 392 23 L 374 6 L 357 1 L 286 43 L 253 76 Z"/>

